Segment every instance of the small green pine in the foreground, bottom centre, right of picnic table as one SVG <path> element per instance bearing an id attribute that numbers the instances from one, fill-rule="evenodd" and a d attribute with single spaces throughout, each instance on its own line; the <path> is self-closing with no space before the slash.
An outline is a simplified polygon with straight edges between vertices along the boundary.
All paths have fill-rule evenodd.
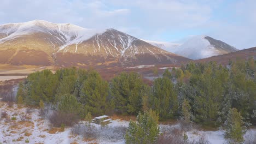
<path id="1" fill-rule="evenodd" d="M 152 110 L 139 113 L 137 122 L 129 122 L 125 135 L 125 143 L 150 144 L 155 143 L 160 133 L 158 115 Z"/>

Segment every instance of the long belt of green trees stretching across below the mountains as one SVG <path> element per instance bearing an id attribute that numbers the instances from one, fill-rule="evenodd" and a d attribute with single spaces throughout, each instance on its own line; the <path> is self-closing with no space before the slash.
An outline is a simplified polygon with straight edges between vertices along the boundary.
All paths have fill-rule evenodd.
<path id="1" fill-rule="evenodd" d="M 152 87 L 137 73 L 121 73 L 108 83 L 94 70 L 60 69 L 55 74 L 43 70 L 20 83 L 16 98 L 19 104 L 39 106 L 41 100 L 41 104 L 59 105 L 60 111 L 83 118 L 88 112 L 136 115 L 152 109 L 160 119 L 184 116 L 189 120 L 185 114 L 189 111 L 190 120 L 214 127 L 226 121 L 229 109 L 236 108 L 246 123 L 255 125 L 255 75 L 253 58 L 247 62 L 237 58 L 229 65 L 188 63 L 165 70 Z"/>

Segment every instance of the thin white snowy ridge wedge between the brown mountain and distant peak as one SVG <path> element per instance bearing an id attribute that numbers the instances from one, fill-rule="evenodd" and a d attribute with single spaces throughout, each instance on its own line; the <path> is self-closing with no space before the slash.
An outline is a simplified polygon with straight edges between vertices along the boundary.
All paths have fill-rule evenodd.
<path id="1" fill-rule="evenodd" d="M 143 39 L 142 39 L 143 40 Z M 182 45 L 182 44 L 179 44 L 179 43 L 170 43 L 170 42 L 166 42 L 166 41 L 153 41 L 153 40 L 143 40 L 143 41 L 146 41 L 147 43 L 149 44 L 152 44 L 156 47 L 159 47 L 163 50 L 166 50 L 168 52 L 175 52 L 177 51 L 177 48 Z"/>

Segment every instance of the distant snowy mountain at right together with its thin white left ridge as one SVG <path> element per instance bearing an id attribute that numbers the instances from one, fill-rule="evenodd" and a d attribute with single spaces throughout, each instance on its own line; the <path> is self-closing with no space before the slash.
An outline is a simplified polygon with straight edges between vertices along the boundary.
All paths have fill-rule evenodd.
<path id="1" fill-rule="evenodd" d="M 150 40 L 144 41 L 168 52 L 173 52 L 190 59 L 207 58 L 237 51 L 235 47 L 206 35 L 190 36 L 189 38 L 182 40 L 184 41 L 183 44 Z"/>

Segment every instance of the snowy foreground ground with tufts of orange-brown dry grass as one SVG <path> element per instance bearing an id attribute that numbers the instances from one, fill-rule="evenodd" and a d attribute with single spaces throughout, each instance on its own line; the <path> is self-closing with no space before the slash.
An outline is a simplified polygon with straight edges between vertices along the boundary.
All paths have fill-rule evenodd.
<path id="1" fill-rule="evenodd" d="M 82 136 L 72 134 L 72 128 L 65 128 L 62 131 L 60 128 L 51 128 L 48 121 L 39 117 L 38 109 L 29 109 L 26 107 L 18 108 L 16 104 L 8 107 L 7 103 L 0 101 L 0 112 L 6 112 L 9 118 L 0 119 L 0 143 L 125 143 L 122 140 L 85 140 Z M 15 118 L 16 119 L 15 119 Z M 8 120 L 7 120 L 8 119 Z M 81 124 L 84 122 L 81 122 Z M 93 124 L 100 129 L 100 125 Z M 128 127 L 129 122 L 113 120 L 109 127 L 124 126 Z M 167 127 L 161 125 L 161 127 Z M 178 124 L 171 127 L 179 127 Z M 204 136 L 210 143 L 224 143 L 224 131 L 199 131 L 191 130 L 187 133 L 189 141 L 196 141 L 200 136 Z M 256 129 L 248 130 L 245 138 L 256 135 Z"/>

